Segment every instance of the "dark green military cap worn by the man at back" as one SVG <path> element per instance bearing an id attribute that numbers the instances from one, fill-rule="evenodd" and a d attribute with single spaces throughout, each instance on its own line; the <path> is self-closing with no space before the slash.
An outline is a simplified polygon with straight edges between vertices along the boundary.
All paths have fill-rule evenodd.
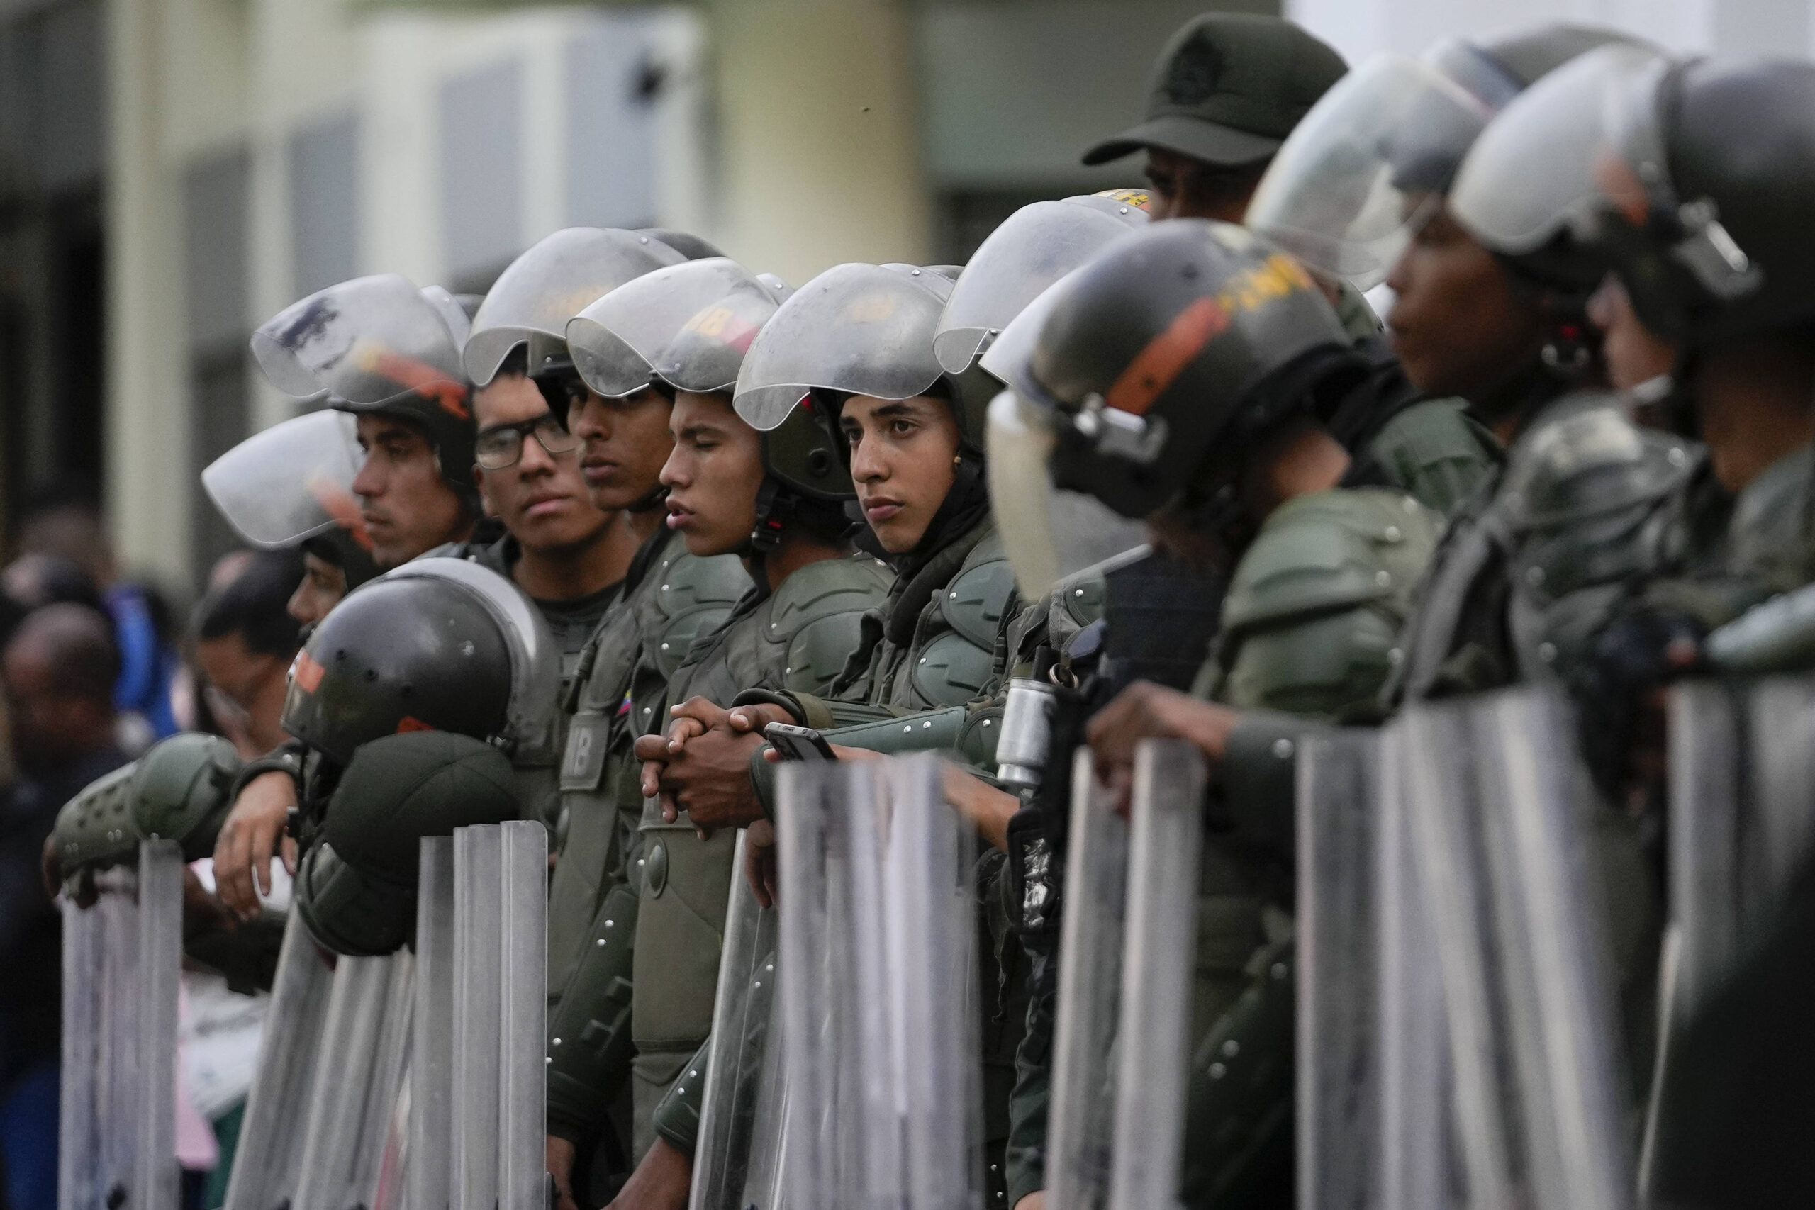
<path id="1" fill-rule="evenodd" d="M 1205 13 L 1172 34 L 1154 69 L 1140 125 L 1084 152 L 1107 163 L 1143 147 L 1205 163 L 1267 160 L 1349 65 L 1278 16 Z"/>

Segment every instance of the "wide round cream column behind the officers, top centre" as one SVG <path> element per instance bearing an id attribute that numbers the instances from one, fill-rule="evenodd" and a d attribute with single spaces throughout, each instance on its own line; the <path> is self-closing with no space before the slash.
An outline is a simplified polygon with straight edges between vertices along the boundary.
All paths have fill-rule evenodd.
<path id="1" fill-rule="evenodd" d="M 799 285 L 840 261 L 922 261 L 929 205 L 906 4 L 717 0 L 719 236 Z"/>

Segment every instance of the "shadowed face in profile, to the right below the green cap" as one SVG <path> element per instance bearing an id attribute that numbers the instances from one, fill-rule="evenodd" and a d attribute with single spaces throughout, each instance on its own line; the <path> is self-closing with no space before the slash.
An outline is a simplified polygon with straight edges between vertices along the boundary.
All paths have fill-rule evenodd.
<path id="1" fill-rule="evenodd" d="M 1447 209 L 1418 230 L 1387 285 L 1398 296 L 1387 316 L 1392 350 L 1427 394 L 1474 399 L 1537 357 L 1537 308 L 1514 296 L 1501 263 Z"/>

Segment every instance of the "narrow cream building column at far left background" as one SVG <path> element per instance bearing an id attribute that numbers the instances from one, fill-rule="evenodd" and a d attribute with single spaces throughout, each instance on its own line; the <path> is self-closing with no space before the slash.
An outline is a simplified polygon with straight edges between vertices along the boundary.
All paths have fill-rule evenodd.
<path id="1" fill-rule="evenodd" d="M 182 176 L 163 147 L 162 27 L 163 0 L 107 5 L 107 513 L 123 570 L 187 590 Z"/>

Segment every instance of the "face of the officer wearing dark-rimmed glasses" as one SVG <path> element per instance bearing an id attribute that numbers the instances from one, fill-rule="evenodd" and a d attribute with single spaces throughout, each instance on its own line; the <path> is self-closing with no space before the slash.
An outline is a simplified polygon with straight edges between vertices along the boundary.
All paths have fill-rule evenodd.
<path id="1" fill-rule="evenodd" d="M 523 374 L 499 374 L 474 395 L 472 414 L 483 437 L 546 415 L 548 401 Z M 586 492 L 579 450 L 550 454 L 534 434 L 519 434 L 519 446 L 512 466 L 474 468 L 486 515 L 503 521 L 525 550 L 577 551 L 597 541 L 612 519 Z"/>

